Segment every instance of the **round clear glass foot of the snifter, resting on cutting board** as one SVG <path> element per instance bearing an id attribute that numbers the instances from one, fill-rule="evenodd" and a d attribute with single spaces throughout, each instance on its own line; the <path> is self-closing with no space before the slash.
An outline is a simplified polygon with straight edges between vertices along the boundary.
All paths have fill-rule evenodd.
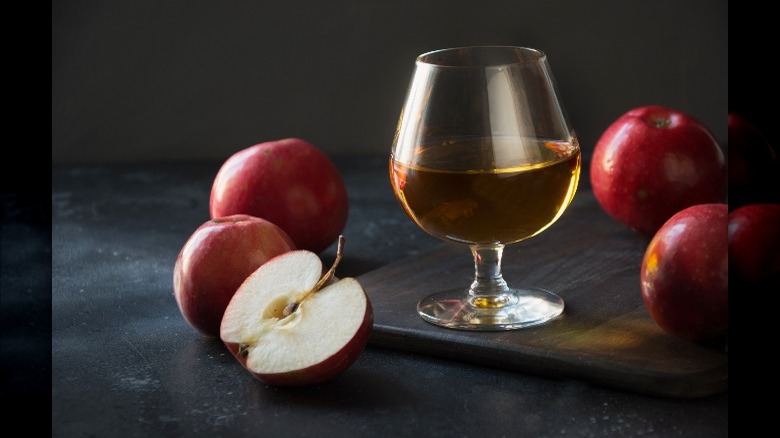
<path id="1" fill-rule="evenodd" d="M 544 324 L 560 316 L 563 307 L 558 295 L 544 289 L 510 289 L 487 298 L 456 289 L 423 298 L 417 304 L 417 313 L 442 327 L 498 331 Z"/>

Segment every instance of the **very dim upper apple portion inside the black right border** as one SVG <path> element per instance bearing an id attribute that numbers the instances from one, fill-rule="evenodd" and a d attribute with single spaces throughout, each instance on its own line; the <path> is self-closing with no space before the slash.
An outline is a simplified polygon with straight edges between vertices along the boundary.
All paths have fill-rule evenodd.
<path id="1" fill-rule="evenodd" d="M 761 130 L 731 111 L 728 136 L 729 207 L 780 202 L 780 161 Z"/>

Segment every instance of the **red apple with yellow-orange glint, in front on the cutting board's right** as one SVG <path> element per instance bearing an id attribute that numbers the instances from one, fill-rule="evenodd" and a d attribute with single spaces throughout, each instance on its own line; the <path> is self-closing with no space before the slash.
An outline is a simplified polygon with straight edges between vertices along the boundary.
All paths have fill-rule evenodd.
<path id="1" fill-rule="evenodd" d="M 666 332 L 703 341 L 728 331 L 728 214 L 727 204 L 693 205 L 651 239 L 642 259 L 642 298 Z"/>

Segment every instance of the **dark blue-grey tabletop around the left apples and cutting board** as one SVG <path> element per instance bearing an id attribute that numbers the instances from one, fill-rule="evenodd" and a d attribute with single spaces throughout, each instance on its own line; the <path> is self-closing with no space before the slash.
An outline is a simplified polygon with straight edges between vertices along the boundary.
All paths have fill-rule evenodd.
<path id="1" fill-rule="evenodd" d="M 350 196 L 340 276 L 441 245 L 401 211 L 385 157 L 334 161 Z M 728 435 L 728 393 L 653 397 L 375 346 L 329 383 L 254 380 L 187 325 L 173 297 L 176 255 L 208 219 L 220 164 L 53 168 L 52 436 Z M 4 226 L 4 254 L 34 244 L 30 230 Z M 322 253 L 326 264 L 334 254 Z M 15 292 L 12 304 L 23 304 Z"/>

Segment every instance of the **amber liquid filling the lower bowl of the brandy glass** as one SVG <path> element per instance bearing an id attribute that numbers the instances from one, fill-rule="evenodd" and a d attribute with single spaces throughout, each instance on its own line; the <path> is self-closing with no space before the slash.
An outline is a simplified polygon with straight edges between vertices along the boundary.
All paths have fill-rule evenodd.
<path id="1" fill-rule="evenodd" d="M 529 153 L 496 164 L 507 147 Z M 390 158 L 396 198 L 427 233 L 466 244 L 509 244 L 548 228 L 571 203 L 582 166 L 577 145 L 541 139 L 449 141 L 410 155 Z"/>

